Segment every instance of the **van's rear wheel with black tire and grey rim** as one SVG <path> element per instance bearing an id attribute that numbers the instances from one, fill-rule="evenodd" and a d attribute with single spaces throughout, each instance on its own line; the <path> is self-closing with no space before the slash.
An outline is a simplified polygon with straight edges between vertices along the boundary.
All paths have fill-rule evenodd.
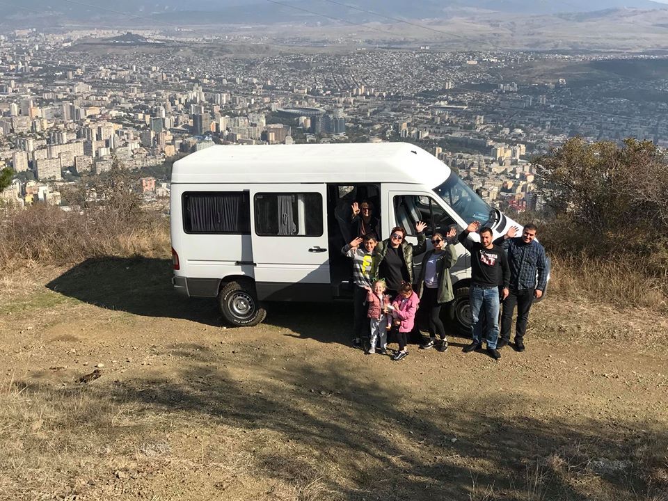
<path id="1" fill-rule="evenodd" d="M 218 294 L 218 306 L 225 320 L 235 327 L 253 327 L 267 317 L 267 310 L 257 301 L 252 283 L 226 283 Z"/>

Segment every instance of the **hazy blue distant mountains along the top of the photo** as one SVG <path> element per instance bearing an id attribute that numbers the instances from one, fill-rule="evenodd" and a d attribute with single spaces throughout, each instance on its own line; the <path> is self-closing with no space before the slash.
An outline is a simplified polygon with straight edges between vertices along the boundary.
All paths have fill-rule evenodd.
<path id="1" fill-rule="evenodd" d="M 116 26 L 128 29 L 160 24 L 332 25 L 392 23 L 396 19 L 439 20 L 513 16 L 518 22 L 532 16 L 584 19 L 621 15 L 637 10 L 668 10 L 651 0 L 86 0 L 86 2 L 22 0 L 2 3 L 0 26 L 5 29 L 53 27 L 63 24 Z M 630 9 L 630 10 L 626 10 Z"/>

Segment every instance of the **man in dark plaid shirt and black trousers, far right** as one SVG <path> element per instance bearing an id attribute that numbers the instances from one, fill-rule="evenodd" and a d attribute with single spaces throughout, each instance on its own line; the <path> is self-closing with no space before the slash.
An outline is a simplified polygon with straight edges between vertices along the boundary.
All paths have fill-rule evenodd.
<path id="1" fill-rule="evenodd" d="M 524 351 L 524 335 L 527 332 L 529 310 L 534 298 L 543 296 L 548 281 L 545 249 L 536 238 L 536 225 L 527 224 L 521 237 L 515 237 L 517 228 L 510 228 L 494 244 L 501 245 L 508 253 L 510 265 L 510 291 L 503 302 L 501 315 L 501 339 L 497 348 L 510 342 L 510 328 L 513 324 L 513 310 L 517 306 L 515 325 L 515 351 Z M 536 280 L 537 276 L 537 280 Z"/>

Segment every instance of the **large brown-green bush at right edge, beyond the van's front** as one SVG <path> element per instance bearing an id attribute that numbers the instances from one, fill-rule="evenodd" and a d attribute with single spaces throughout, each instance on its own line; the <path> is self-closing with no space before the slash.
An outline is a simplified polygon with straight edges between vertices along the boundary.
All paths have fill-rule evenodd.
<path id="1" fill-rule="evenodd" d="M 630 253 L 668 271 L 665 150 L 635 138 L 618 145 L 575 137 L 534 164 L 562 250 Z"/>

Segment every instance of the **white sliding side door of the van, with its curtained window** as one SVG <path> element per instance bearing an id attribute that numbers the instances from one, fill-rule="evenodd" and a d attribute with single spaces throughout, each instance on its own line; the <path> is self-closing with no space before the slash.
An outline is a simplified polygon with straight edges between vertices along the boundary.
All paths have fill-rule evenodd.
<path id="1" fill-rule="evenodd" d="M 330 301 L 326 184 L 250 189 L 257 299 Z"/>

